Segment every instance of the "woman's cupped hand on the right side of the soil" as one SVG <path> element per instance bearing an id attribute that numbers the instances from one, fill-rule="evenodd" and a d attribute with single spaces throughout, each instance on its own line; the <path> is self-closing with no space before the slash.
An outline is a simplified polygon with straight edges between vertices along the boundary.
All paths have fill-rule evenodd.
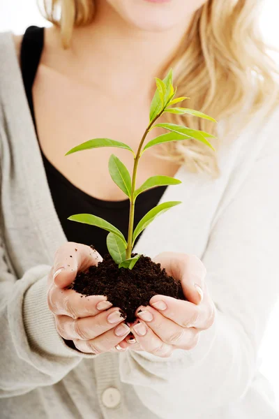
<path id="1" fill-rule="evenodd" d="M 176 348 L 195 348 L 199 332 L 213 325 L 216 309 L 204 281 L 205 267 L 196 256 L 166 252 L 153 261 L 181 280 L 188 301 L 155 295 L 148 307 L 137 309 L 139 321 L 131 325 L 135 339 L 124 339 L 120 346 L 169 357 Z"/>

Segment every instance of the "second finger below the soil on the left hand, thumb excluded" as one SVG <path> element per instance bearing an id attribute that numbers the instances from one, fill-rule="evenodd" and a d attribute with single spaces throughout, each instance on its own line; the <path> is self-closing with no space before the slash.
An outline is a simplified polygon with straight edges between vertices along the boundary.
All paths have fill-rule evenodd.
<path id="1" fill-rule="evenodd" d="M 59 335 L 64 339 L 87 341 L 103 335 L 107 330 L 115 328 L 116 325 L 120 325 L 123 321 L 124 318 L 119 309 L 112 308 L 94 317 L 73 319 L 68 316 L 56 316 L 56 328 Z M 124 326 L 123 324 L 121 327 L 116 328 L 116 334 L 118 336 L 122 336 L 121 332 L 126 330 Z"/>

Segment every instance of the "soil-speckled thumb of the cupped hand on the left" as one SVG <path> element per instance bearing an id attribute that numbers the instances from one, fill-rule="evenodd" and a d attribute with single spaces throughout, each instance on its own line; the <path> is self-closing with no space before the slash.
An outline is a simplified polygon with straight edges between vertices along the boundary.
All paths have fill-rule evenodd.
<path id="1" fill-rule="evenodd" d="M 98 265 L 102 260 L 98 251 L 85 244 L 68 242 L 59 247 L 54 256 L 52 278 L 56 286 L 65 288 L 74 281 L 77 271 Z"/>

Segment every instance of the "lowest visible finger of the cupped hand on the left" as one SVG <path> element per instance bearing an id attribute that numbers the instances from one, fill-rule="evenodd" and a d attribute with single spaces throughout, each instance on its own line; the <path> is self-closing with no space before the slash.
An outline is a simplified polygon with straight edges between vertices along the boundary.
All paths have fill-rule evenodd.
<path id="1" fill-rule="evenodd" d="M 117 329 L 123 326 L 123 331 L 125 329 L 125 334 L 121 337 L 117 336 Z M 127 335 L 130 333 L 130 328 L 125 323 L 121 323 L 121 325 L 116 326 L 114 330 L 109 330 L 105 332 L 103 335 L 96 337 L 95 339 L 91 339 L 88 341 L 74 339 L 73 342 L 75 347 L 84 353 L 95 353 L 98 355 L 99 353 L 104 353 L 113 350 L 114 348 L 120 344 L 120 342 L 125 339 Z"/>

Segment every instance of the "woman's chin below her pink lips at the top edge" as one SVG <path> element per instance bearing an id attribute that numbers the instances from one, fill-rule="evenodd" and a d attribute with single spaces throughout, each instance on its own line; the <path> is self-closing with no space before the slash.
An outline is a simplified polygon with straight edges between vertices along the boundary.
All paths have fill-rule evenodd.
<path id="1" fill-rule="evenodd" d="M 142 31 L 162 32 L 181 27 L 206 0 L 107 0 L 129 25 Z"/>

